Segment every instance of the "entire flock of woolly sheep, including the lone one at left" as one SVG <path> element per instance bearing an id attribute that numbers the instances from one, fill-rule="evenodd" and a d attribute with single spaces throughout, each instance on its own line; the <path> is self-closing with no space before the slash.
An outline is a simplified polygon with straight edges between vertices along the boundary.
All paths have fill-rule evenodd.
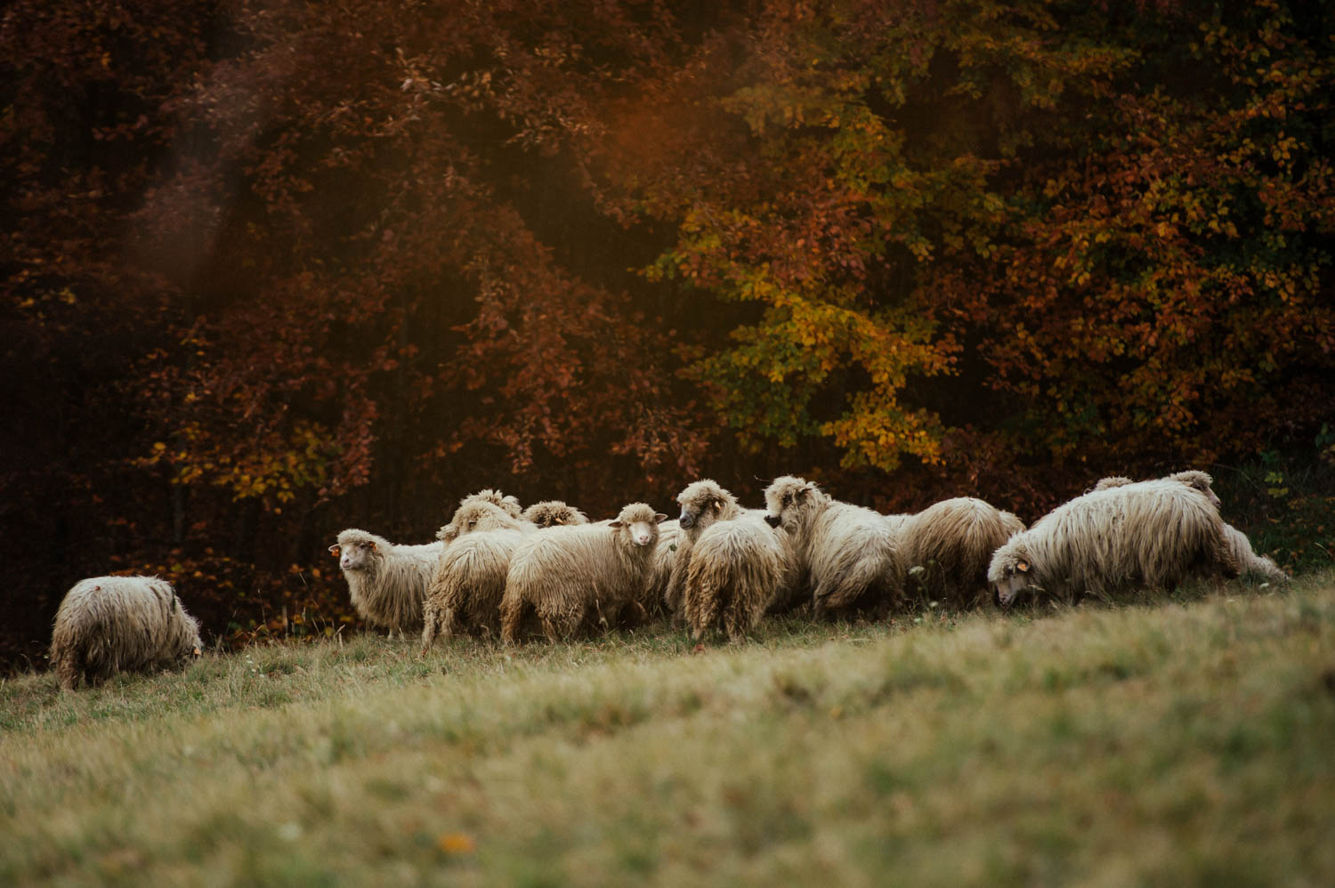
<path id="1" fill-rule="evenodd" d="M 517 644 L 567 641 L 609 626 L 685 624 L 744 641 L 769 613 L 885 617 L 924 602 L 1009 606 L 1023 594 L 1108 598 L 1172 589 L 1189 576 L 1287 576 L 1219 515 L 1203 471 L 1153 481 L 1104 478 L 1032 527 L 960 497 L 884 515 L 785 475 L 745 509 L 718 483 L 681 491 L 669 521 L 634 502 L 590 523 L 561 501 L 522 509 L 482 490 L 461 501 L 437 541 L 395 545 L 348 529 L 330 551 L 351 602 L 390 636 L 474 634 Z M 200 654 L 199 625 L 171 584 L 95 577 L 56 614 L 51 662 L 60 685 L 179 666 Z"/>

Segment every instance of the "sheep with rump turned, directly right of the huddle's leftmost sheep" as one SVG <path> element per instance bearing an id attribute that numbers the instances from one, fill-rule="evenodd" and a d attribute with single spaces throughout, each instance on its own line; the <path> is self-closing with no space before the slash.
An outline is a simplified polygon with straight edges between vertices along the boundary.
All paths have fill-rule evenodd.
<path id="1" fill-rule="evenodd" d="M 513 518 L 490 502 L 466 501 L 458 523 L 441 529 L 453 542 L 442 549 L 422 608 L 422 653 L 437 632 L 499 630 L 499 605 L 510 556 L 538 526 Z M 462 534 L 462 535 L 461 535 Z"/>

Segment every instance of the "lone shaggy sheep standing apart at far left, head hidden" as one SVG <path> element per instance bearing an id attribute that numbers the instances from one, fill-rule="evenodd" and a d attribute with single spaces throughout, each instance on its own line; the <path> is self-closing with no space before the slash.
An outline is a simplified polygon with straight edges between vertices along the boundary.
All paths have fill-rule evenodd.
<path id="1" fill-rule="evenodd" d="M 200 656 L 199 622 L 158 577 L 89 577 L 65 593 L 51 633 L 60 686 L 117 672 L 182 668 Z"/>

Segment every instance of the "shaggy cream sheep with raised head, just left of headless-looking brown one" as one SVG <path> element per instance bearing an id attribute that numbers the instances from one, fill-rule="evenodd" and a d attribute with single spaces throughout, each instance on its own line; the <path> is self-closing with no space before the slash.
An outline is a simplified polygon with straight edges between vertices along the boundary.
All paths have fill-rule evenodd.
<path id="1" fill-rule="evenodd" d="M 793 539 L 817 617 L 881 612 L 902 593 L 894 529 L 885 515 L 840 502 L 793 475 L 769 485 L 765 505 L 765 521 L 784 527 Z"/>

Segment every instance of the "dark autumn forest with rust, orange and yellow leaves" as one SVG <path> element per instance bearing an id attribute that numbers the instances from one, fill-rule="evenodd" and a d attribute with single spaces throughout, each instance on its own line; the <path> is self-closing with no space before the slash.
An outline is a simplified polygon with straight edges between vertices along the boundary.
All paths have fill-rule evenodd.
<path id="1" fill-rule="evenodd" d="M 211 638 L 501 487 L 785 473 L 1027 521 L 1193 466 L 1335 546 L 1331 4 L 19 0 L 0 666 L 77 578 Z"/>

